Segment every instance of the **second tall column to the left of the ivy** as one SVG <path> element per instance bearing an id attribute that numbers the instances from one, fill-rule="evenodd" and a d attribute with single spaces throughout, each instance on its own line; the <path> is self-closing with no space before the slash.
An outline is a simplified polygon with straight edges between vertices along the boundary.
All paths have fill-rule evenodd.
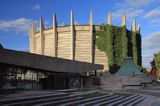
<path id="1" fill-rule="evenodd" d="M 72 11 L 71 11 L 71 16 L 70 16 L 70 28 L 71 28 L 71 60 L 75 60 L 74 18 L 73 18 Z"/>

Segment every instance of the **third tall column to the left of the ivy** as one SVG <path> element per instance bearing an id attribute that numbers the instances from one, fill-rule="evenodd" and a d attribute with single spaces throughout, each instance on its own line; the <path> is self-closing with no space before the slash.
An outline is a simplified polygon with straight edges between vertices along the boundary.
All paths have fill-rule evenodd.
<path id="1" fill-rule="evenodd" d="M 53 14 L 53 56 L 57 57 L 58 50 L 58 33 L 57 33 L 57 19 L 56 14 Z"/>

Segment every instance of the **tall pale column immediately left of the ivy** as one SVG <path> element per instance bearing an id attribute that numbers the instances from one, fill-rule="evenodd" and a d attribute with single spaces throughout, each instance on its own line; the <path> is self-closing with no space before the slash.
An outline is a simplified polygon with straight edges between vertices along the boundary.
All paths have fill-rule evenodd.
<path id="1" fill-rule="evenodd" d="M 93 20 L 92 20 L 92 11 L 90 11 L 90 36 L 91 36 L 90 62 L 93 63 Z"/>

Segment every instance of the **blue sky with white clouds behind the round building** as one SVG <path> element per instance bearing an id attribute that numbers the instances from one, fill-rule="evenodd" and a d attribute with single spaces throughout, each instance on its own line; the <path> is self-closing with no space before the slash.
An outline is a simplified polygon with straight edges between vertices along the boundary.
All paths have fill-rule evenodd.
<path id="1" fill-rule="evenodd" d="M 32 21 L 39 28 L 43 17 L 45 28 L 52 27 L 56 13 L 58 24 L 70 23 L 70 11 L 78 24 L 107 22 L 112 12 L 112 23 L 120 26 L 122 16 L 127 16 L 127 28 L 134 19 L 141 25 L 142 63 L 149 67 L 155 53 L 160 51 L 160 0 L 0 0 L 0 44 L 13 50 L 29 50 L 29 28 Z"/>

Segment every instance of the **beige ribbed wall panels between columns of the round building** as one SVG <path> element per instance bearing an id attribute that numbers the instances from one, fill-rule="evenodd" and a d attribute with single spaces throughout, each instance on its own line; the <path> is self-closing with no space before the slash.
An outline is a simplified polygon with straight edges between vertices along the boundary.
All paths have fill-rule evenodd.
<path id="1" fill-rule="evenodd" d="M 57 29 L 58 40 L 57 43 L 57 57 L 71 59 L 72 57 L 72 36 L 70 26 L 58 27 Z M 93 26 L 93 35 L 95 38 L 96 31 L 99 30 L 99 26 Z M 54 33 L 53 29 L 44 30 L 44 55 L 54 56 Z M 93 51 L 91 49 L 91 33 L 89 25 L 76 25 L 74 26 L 74 54 L 75 60 L 91 62 L 91 52 L 93 52 L 94 63 L 104 65 L 104 70 L 108 70 L 108 60 L 106 53 L 99 50 L 95 44 L 93 44 Z M 94 39 L 93 38 L 93 39 Z M 40 54 L 40 33 L 35 34 L 35 52 Z M 30 42 L 31 43 L 31 42 Z M 33 50 L 34 51 L 34 50 Z"/>

